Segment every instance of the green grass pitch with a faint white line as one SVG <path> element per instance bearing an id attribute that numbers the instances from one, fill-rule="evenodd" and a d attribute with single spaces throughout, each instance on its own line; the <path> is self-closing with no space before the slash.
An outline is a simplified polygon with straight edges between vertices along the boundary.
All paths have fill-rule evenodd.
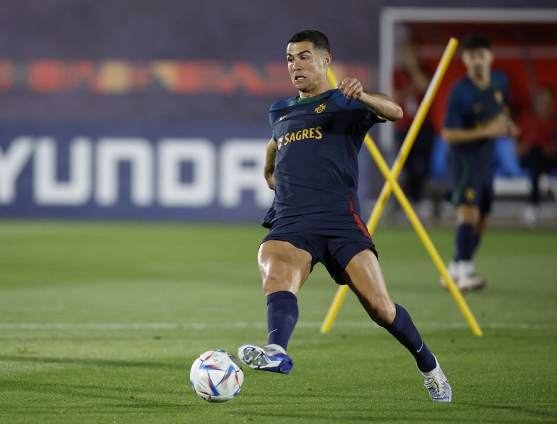
<path id="1" fill-rule="evenodd" d="M 299 292 L 290 375 L 244 368 L 210 404 L 189 367 L 211 348 L 265 343 L 257 225 L 0 223 L 0 423 L 556 423 L 557 232 L 489 230 L 466 295 L 476 338 L 411 229 L 379 228 L 391 297 L 453 386 L 431 402 L 410 354 L 319 265 Z M 451 230 L 433 230 L 445 260 Z"/>

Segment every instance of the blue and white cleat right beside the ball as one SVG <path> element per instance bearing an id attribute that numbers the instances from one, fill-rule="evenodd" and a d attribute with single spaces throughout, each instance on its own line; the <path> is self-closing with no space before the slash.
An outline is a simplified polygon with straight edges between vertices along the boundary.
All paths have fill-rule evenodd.
<path id="1" fill-rule="evenodd" d="M 294 362 L 279 345 L 243 345 L 238 349 L 238 357 L 246 366 L 254 370 L 281 372 L 288 374 Z"/>

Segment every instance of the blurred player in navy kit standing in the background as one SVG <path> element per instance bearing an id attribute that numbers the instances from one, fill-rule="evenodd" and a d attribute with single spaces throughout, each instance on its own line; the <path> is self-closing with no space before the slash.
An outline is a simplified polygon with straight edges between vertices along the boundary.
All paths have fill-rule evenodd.
<path id="1" fill-rule="evenodd" d="M 464 40 L 466 76 L 453 86 L 442 130 L 457 207 L 456 252 L 448 272 L 463 292 L 487 284 L 476 276 L 472 258 L 492 207 L 494 139 L 518 133 L 508 116 L 508 79 L 491 69 L 493 58 L 489 38 L 473 34 Z M 441 285 L 446 287 L 444 278 Z"/>

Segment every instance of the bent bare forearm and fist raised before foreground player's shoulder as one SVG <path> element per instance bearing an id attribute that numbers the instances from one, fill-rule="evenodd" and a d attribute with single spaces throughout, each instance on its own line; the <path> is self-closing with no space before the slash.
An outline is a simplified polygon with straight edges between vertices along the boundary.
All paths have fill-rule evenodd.
<path id="1" fill-rule="evenodd" d="M 356 78 L 345 78 L 338 88 L 349 99 L 358 100 L 371 109 L 379 118 L 390 121 L 402 118 L 402 107 L 386 94 L 363 91 L 361 82 Z"/>

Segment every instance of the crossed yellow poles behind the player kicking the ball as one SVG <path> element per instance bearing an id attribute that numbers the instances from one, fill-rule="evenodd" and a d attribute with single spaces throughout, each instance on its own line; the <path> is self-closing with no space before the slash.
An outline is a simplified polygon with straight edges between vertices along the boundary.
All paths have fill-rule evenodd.
<path id="1" fill-rule="evenodd" d="M 462 294 L 460 290 L 457 288 L 455 282 L 453 281 L 453 278 L 451 278 L 450 274 L 448 273 L 445 263 L 441 259 L 441 256 L 439 256 L 439 252 L 437 251 L 437 249 L 435 249 L 435 246 L 432 243 L 430 236 L 425 231 L 425 228 L 423 228 L 420 219 L 418 219 L 418 217 L 416 216 L 416 212 L 414 212 L 414 209 L 412 209 L 406 195 L 404 194 L 404 191 L 402 191 L 400 185 L 397 182 L 398 175 L 400 174 L 400 171 L 402 171 L 402 166 L 405 164 L 405 161 L 412 148 L 412 145 L 416 140 L 416 136 L 418 135 L 418 132 L 423 124 L 423 120 L 427 115 L 427 111 L 429 111 L 433 98 L 435 97 L 435 94 L 439 89 L 439 85 L 441 84 L 441 79 L 443 79 L 443 76 L 448 68 L 450 60 L 451 58 L 453 58 L 453 55 L 455 54 L 457 46 L 458 46 L 458 41 L 455 38 L 450 38 L 448 45 L 445 49 L 445 52 L 443 56 L 441 56 L 441 61 L 439 61 L 439 65 L 437 65 L 437 70 L 435 71 L 432 81 L 430 82 L 430 86 L 427 88 L 427 92 L 425 93 L 423 100 L 420 104 L 420 107 L 416 112 L 416 117 L 412 121 L 410 128 L 407 132 L 407 135 L 405 137 L 405 140 L 402 143 L 402 146 L 400 147 L 400 151 L 398 152 L 398 155 L 395 159 L 395 163 L 393 164 L 392 169 L 389 169 L 389 166 L 386 164 L 383 155 L 379 151 L 379 148 L 377 148 L 371 136 L 367 134 L 366 139 L 364 139 L 364 143 L 366 143 L 366 147 L 370 151 L 373 159 L 375 160 L 377 166 L 379 167 L 379 171 L 381 171 L 381 173 L 384 175 L 386 180 L 383 189 L 381 191 L 381 194 L 379 194 L 379 198 L 377 198 L 377 202 L 373 207 L 373 211 L 368 221 L 368 230 L 370 234 L 373 233 L 373 231 L 377 227 L 377 223 L 379 222 L 379 217 L 381 217 L 386 202 L 389 200 L 389 196 L 391 195 L 391 192 L 394 191 L 395 197 L 398 199 L 398 202 L 402 206 L 402 209 L 407 214 L 410 223 L 414 227 L 414 230 L 416 230 L 418 237 L 420 237 L 420 240 L 425 246 L 425 250 L 427 251 L 427 253 L 430 254 L 430 257 L 432 258 L 434 265 L 439 270 L 441 276 L 445 278 L 445 281 L 447 282 L 448 290 L 450 294 L 453 295 L 455 301 L 457 302 L 457 305 L 460 308 L 462 315 L 464 315 L 466 322 L 468 322 L 472 333 L 474 334 L 474 336 L 481 337 L 483 336 L 482 329 L 480 329 L 480 326 L 478 325 L 476 318 L 474 317 L 473 313 L 470 311 L 468 304 L 466 304 L 466 301 L 464 300 L 464 297 L 462 297 Z M 330 69 L 327 71 L 327 78 L 329 79 L 329 84 L 331 84 L 331 87 L 336 88 L 336 78 L 334 77 L 334 74 L 333 72 L 331 72 Z M 340 306 L 343 303 L 347 291 L 348 291 L 347 285 L 341 285 L 338 288 L 336 295 L 333 299 L 333 302 L 331 303 L 331 306 L 329 306 L 329 311 L 327 312 L 327 316 L 325 317 L 323 324 L 321 326 L 321 333 L 328 333 L 329 330 L 331 329 L 331 326 L 336 318 L 336 315 L 338 314 L 338 311 L 340 309 Z"/>

